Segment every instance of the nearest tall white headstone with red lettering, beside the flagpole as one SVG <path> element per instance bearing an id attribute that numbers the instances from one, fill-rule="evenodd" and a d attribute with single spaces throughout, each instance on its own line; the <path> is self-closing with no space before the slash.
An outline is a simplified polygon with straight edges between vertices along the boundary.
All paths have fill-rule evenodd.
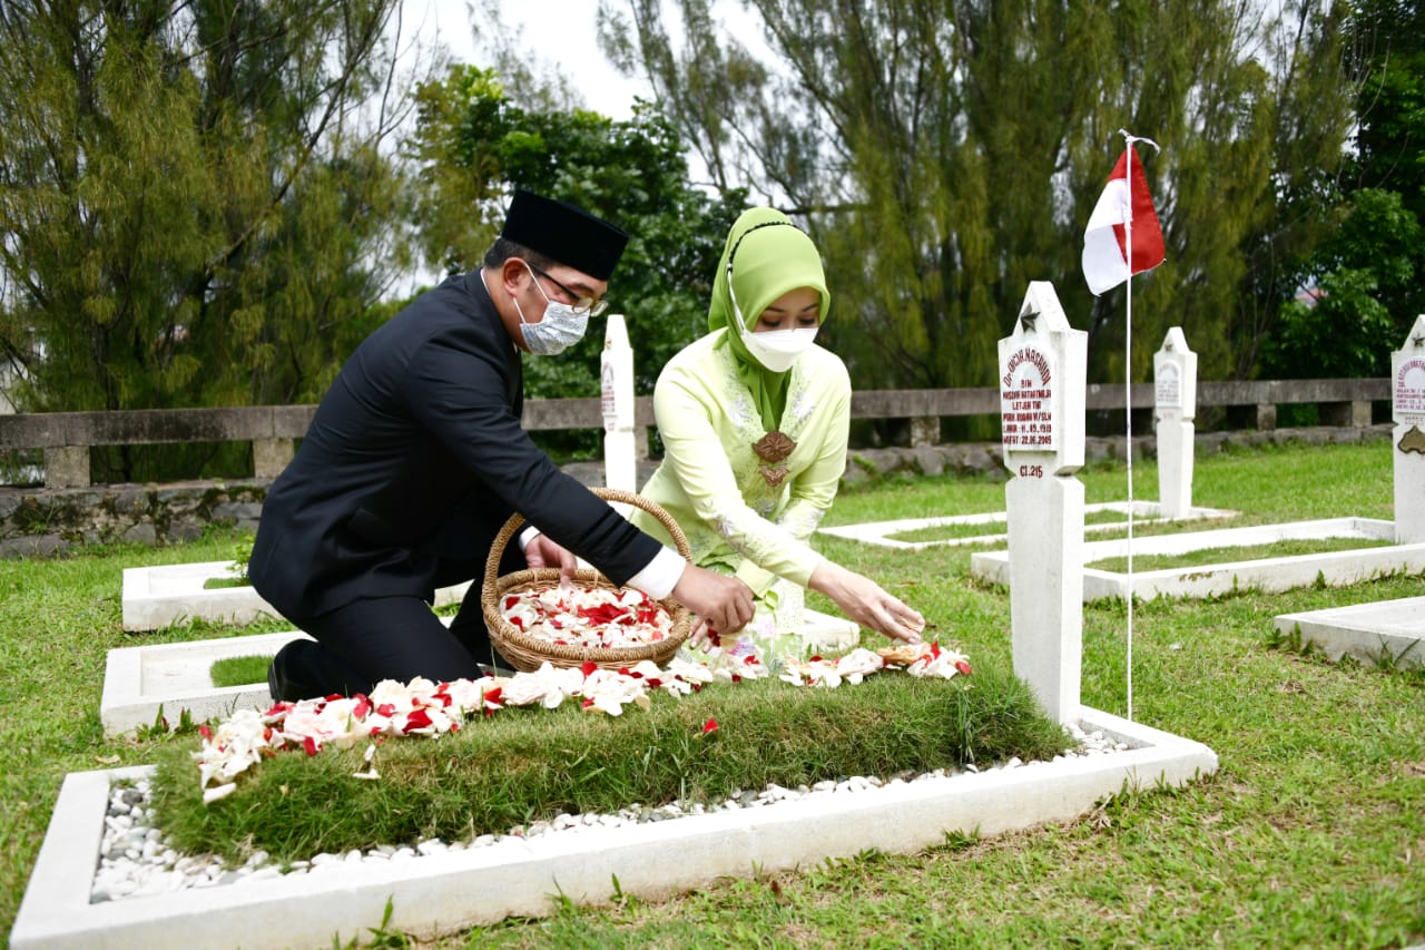
<path id="1" fill-rule="evenodd" d="M 1015 675 L 1059 722 L 1079 717 L 1083 665 L 1083 465 L 1089 335 L 1035 281 L 999 341 Z"/>

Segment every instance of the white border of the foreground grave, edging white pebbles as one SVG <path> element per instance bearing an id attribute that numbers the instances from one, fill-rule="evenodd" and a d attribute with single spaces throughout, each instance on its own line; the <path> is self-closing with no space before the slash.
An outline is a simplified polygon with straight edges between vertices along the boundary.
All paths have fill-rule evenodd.
<path id="1" fill-rule="evenodd" d="M 567 897 L 657 900 L 722 877 L 817 866 L 866 849 L 915 853 L 948 833 L 995 836 L 1087 814 L 1114 795 L 1183 786 L 1217 770 L 1207 746 L 1082 709 L 1124 752 L 1036 762 L 858 793 L 633 827 L 503 840 L 403 862 L 336 864 L 316 873 L 90 903 L 110 785 L 147 767 L 76 772 L 64 779 L 48 833 L 10 930 L 11 950 L 144 947 L 245 950 L 345 946 L 379 927 L 418 937 L 512 916 L 553 913 Z M 675 860 L 670 860 L 674 856 Z"/>

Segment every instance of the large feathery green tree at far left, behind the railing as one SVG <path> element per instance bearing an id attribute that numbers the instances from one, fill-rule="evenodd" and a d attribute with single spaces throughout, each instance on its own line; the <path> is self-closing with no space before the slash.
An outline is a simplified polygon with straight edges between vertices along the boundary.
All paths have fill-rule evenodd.
<path id="1" fill-rule="evenodd" d="M 0 3 L 0 354 L 21 409 L 295 402 L 406 260 L 363 113 L 396 0 Z M 131 452 L 95 455 L 151 472 Z"/>

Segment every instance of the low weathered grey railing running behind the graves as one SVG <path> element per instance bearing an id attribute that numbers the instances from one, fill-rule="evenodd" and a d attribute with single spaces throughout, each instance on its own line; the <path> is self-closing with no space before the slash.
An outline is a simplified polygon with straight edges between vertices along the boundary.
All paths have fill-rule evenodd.
<path id="1" fill-rule="evenodd" d="M 1090 385 L 1086 408 L 1123 411 L 1123 385 Z M 1204 408 L 1227 411 L 1228 422 L 1271 429 L 1277 407 L 1315 404 L 1325 425 L 1367 427 L 1371 404 L 1388 401 L 1389 381 L 1378 379 L 1254 379 L 1198 382 L 1198 415 Z M 851 398 L 854 419 L 911 419 L 911 444 L 939 439 L 940 419 L 999 415 L 999 389 L 869 389 Z M 1136 411 L 1150 411 L 1153 384 L 1131 388 Z M 292 459 L 294 439 L 306 434 L 315 405 L 255 405 L 211 409 L 127 409 L 115 412 L 38 412 L 0 415 L 0 451 L 44 452 L 48 488 L 90 484 L 90 448 L 172 442 L 251 442 L 258 478 L 274 478 Z M 530 431 L 600 429 L 601 402 L 587 399 L 530 399 L 524 428 Z M 636 422 L 653 427 L 653 399 L 638 397 Z"/>

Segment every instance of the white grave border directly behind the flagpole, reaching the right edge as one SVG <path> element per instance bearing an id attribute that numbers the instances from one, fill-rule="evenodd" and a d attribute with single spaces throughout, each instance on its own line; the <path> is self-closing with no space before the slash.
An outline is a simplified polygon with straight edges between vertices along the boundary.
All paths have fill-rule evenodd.
<path id="1" fill-rule="evenodd" d="M 1211 548 L 1243 548 L 1270 545 L 1278 541 L 1311 538 L 1362 538 L 1394 541 L 1395 526 L 1375 518 L 1325 518 L 1251 528 L 1223 528 L 1177 535 L 1151 535 L 1133 539 L 1133 555 L 1178 555 Z M 1083 546 L 1083 563 L 1106 558 L 1124 558 L 1127 541 L 1092 541 Z M 1226 561 L 1191 568 L 1133 572 L 1133 595 L 1141 599 L 1159 596 L 1207 598 L 1235 589 L 1290 591 L 1315 583 L 1331 586 L 1358 583 L 1387 573 L 1419 573 L 1425 571 L 1425 543 L 1385 545 L 1359 551 L 1295 555 L 1290 558 L 1260 558 L 1254 561 Z M 970 555 L 970 573 L 993 583 L 1010 585 L 1006 552 L 989 551 Z M 1083 569 L 1083 599 L 1129 596 L 1126 572 Z"/>

